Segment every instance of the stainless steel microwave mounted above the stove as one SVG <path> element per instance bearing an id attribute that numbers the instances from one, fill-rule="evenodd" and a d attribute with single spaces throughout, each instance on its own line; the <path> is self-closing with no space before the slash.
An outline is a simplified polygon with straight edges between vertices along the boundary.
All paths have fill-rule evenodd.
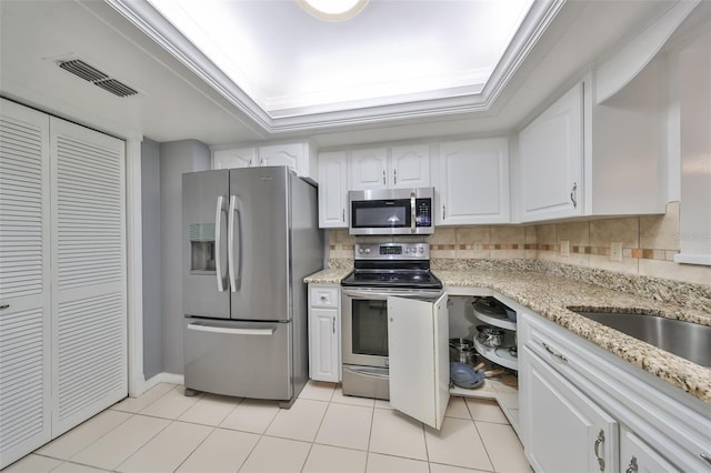
<path id="1" fill-rule="evenodd" d="M 352 235 L 434 233 L 434 188 L 349 191 Z"/>

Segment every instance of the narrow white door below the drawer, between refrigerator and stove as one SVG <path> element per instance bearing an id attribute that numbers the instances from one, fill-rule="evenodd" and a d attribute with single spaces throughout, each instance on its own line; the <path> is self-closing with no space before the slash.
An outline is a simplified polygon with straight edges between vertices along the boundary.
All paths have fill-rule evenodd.
<path id="1" fill-rule="evenodd" d="M 338 310 L 311 308 L 309 315 L 309 378 L 339 382 Z"/>

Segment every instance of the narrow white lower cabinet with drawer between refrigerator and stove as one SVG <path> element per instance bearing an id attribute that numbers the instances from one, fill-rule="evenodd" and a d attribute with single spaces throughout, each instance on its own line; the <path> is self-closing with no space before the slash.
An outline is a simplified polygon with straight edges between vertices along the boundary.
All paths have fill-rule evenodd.
<path id="1" fill-rule="evenodd" d="M 309 378 L 341 380 L 340 285 L 309 284 Z"/>

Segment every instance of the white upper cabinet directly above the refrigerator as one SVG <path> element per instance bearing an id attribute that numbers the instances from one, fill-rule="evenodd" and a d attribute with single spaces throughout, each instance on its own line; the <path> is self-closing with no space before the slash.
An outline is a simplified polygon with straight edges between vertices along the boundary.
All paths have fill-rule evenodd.
<path id="1" fill-rule="evenodd" d="M 287 165 L 304 179 L 316 181 L 316 152 L 309 143 L 268 144 L 252 148 L 228 148 L 212 151 L 212 169 Z"/>

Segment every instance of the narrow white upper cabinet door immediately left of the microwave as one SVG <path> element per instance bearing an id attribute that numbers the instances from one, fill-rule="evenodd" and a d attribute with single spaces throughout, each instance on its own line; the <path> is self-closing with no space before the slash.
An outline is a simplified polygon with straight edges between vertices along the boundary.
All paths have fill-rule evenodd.
<path id="1" fill-rule="evenodd" d="M 319 154 L 319 227 L 348 228 L 348 161 L 346 151 Z"/>

